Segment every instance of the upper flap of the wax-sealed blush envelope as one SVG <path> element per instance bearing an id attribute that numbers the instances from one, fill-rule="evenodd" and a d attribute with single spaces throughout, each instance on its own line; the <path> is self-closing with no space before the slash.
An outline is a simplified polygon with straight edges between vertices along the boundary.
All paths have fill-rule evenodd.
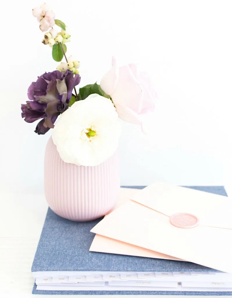
<path id="1" fill-rule="evenodd" d="M 154 183 L 131 200 L 169 217 L 190 213 L 197 216 L 201 225 L 232 229 L 232 200 L 222 195 Z"/>

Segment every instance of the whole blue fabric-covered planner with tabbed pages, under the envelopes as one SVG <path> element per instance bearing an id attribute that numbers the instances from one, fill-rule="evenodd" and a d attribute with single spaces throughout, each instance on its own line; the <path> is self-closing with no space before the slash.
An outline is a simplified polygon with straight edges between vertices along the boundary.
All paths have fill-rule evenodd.
<path id="1" fill-rule="evenodd" d="M 196 186 L 189 188 L 226 196 L 225 189 L 222 186 Z M 69 221 L 56 215 L 50 208 L 48 209 L 41 238 L 32 264 L 32 274 L 36 279 L 32 291 L 33 294 L 232 296 L 232 286 L 228 286 L 228 289 L 224 289 L 223 286 L 223 289 L 220 289 L 219 286 L 219 284 L 230 284 L 219 283 L 221 276 L 225 273 L 220 273 L 212 268 L 183 261 L 90 252 L 89 248 L 94 239 L 94 234 L 91 233 L 90 230 L 100 220 L 101 218 L 90 222 Z M 214 241 L 215 240 L 212 239 L 212 245 L 214 245 Z M 170 243 L 170 245 L 171 244 L 172 243 Z M 199 245 L 201 244 L 199 243 Z M 154 281 L 152 282 L 152 279 L 148 282 L 147 280 L 149 279 L 138 278 L 139 274 L 141 275 L 144 273 L 166 274 L 167 276 L 170 275 L 170 277 L 175 277 L 177 288 L 175 290 L 171 288 L 170 290 L 163 290 L 163 288 L 166 289 L 165 286 L 157 286 L 155 284 L 154 287 L 151 287 L 151 284 L 154 283 Z M 107 281 L 109 280 L 107 277 L 112 277 L 112 274 L 113 277 L 119 276 L 118 281 L 120 278 L 127 280 L 125 276 L 134 276 L 134 278 L 128 281 L 127 286 L 122 287 L 120 286 L 120 283 Z M 187 286 L 186 288 L 183 288 L 180 283 L 181 277 L 179 277 L 180 282 L 176 282 L 177 276 L 180 276 L 181 274 L 191 274 L 193 276 L 198 276 L 199 278 L 201 278 L 201 276 L 202 278 L 206 276 L 214 276 L 214 284 L 217 286 L 217 289 L 208 290 L 208 288 L 197 288 L 189 290 Z M 218 281 L 215 280 L 215 276 L 217 275 L 219 276 Z M 229 274 L 229 276 L 231 276 L 232 284 L 232 275 Z M 104 277 L 106 278 L 104 279 Z M 169 281 L 172 283 L 171 278 Z M 75 284 L 70 282 L 75 282 Z M 96 286 L 93 286 L 94 284 Z"/>

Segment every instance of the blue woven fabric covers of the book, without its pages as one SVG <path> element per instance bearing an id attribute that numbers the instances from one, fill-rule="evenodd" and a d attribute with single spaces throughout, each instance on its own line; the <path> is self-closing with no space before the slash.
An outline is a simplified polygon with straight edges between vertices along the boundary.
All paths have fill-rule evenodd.
<path id="1" fill-rule="evenodd" d="M 140 187 L 138 187 L 140 188 Z M 225 195 L 224 187 L 190 187 Z M 176 272 L 217 271 L 198 264 L 119 254 L 90 252 L 94 239 L 90 230 L 101 220 L 74 222 L 61 218 L 48 209 L 41 238 L 32 264 L 37 271 L 121 271 L 121 272 Z M 186 291 L 48 291 L 36 290 L 33 294 L 165 294 L 165 295 L 232 295 L 231 292 Z"/>

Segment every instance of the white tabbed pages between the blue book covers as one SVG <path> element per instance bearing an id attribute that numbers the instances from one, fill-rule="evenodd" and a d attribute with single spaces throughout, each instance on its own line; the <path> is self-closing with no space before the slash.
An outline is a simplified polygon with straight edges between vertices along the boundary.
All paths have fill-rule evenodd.
<path id="1" fill-rule="evenodd" d="M 223 272 L 34 272 L 37 290 L 232 291 Z"/>

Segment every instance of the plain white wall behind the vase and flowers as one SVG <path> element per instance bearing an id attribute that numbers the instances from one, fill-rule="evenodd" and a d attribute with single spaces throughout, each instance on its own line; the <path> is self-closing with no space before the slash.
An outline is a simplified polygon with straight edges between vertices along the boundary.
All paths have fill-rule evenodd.
<path id="1" fill-rule="evenodd" d="M 43 192 L 43 156 L 51 135 L 21 119 L 27 88 L 56 69 L 31 9 L 5 1 L 1 14 L 1 189 Z M 48 1 L 69 26 L 67 55 L 81 62 L 80 86 L 100 80 L 111 55 L 137 62 L 158 94 L 150 135 L 124 123 L 121 184 L 153 181 L 222 185 L 230 181 L 231 1 Z M 226 176 L 226 177 L 225 177 Z"/>

